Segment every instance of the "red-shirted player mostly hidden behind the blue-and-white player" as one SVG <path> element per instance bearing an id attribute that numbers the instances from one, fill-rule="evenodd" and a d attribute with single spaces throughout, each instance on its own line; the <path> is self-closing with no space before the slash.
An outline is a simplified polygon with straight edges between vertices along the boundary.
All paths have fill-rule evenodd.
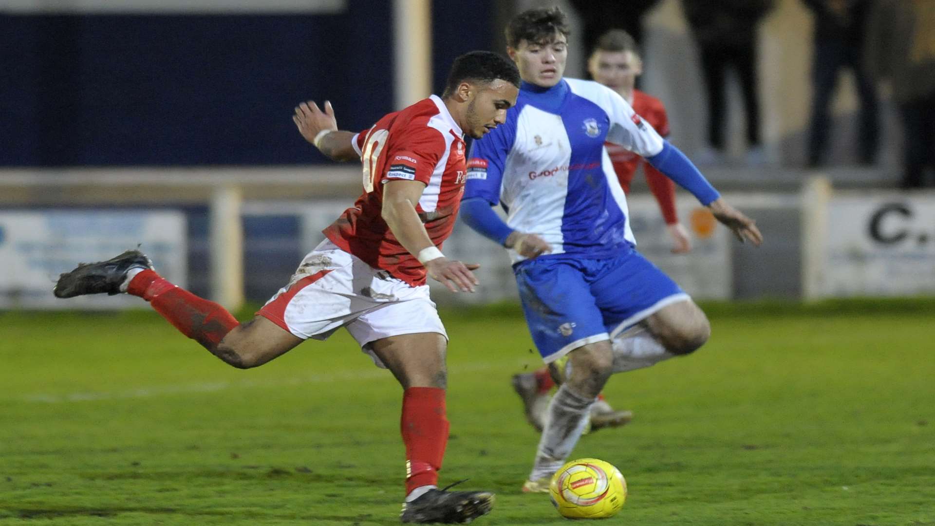
<path id="1" fill-rule="evenodd" d="M 669 136 L 669 117 L 662 101 L 636 89 L 636 80 L 642 74 L 642 60 L 636 40 L 622 29 L 611 29 L 597 39 L 594 51 L 588 59 L 588 72 L 597 82 L 604 84 L 626 99 L 640 117 L 648 122 L 663 138 Z M 659 203 L 659 210 L 666 220 L 672 238 L 672 253 L 684 254 L 691 250 L 688 231 L 679 223 L 675 211 L 675 183 L 659 170 L 650 166 L 636 153 L 612 142 L 604 143 L 611 157 L 613 170 L 624 192 L 629 194 L 630 183 L 640 166 L 646 182 Z M 561 367 L 561 364 L 558 364 Z M 513 389 L 523 399 L 526 420 L 537 430 L 542 430 L 545 412 L 549 406 L 549 393 L 555 386 L 554 373 L 546 367 L 533 373 L 518 373 L 512 377 Z M 618 411 L 604 399 L 597 397 L 591 406 L 590 430 L 622 426 L 633 418 L 631 411 Z"/>

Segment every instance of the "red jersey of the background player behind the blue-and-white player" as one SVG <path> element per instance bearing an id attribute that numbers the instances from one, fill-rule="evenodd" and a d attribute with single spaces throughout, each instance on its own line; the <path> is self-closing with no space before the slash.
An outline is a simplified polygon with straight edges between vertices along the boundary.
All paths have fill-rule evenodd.
<path id="1" fill-rule="evenodd" d="M 666 107 L 662 105 L 661 100 L 646 95 L 640 90 L 633 90 L 633 110 L 653 126 L 659 135 L 669 136 L 669 117 L 666 116 Z M 624 188 L 624 192 L 629 193 L 633 175 L 642 164 L 643 173 L 646 174 L 646 183 L 649 184 L 655 200 L 659 203 L 659 209 L 666 219 L 666 224 L 678 223 L 679 216 L 675 212 L 675 183 L 650 166 L 640 155 L 611 142 L 606 142 L 604 145 L 607 147 L 607 153 L 611 155 L 613 171 L 617 172 L 617 179 Z"/>

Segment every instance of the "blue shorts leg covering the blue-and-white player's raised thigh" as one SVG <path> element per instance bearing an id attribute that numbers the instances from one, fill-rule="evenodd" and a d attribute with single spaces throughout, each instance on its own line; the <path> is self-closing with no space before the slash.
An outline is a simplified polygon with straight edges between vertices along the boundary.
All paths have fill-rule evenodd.
<path id="1" fill-rule="evenodd" d="M 665 272 L 636 251 L 608 260 L 591 289 L 611 337 L 670 305 L 691 302 Z"/>

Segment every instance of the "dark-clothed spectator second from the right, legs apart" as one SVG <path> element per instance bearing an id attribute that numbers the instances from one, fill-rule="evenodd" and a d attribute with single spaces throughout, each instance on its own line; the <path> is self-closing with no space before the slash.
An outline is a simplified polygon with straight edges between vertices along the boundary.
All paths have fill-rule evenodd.
<path id="1" fill-rule="evenodd" d="M 910 2 L 912 0 L 909 0 Z M 870 0 L 802 0 L 815 15 L 814 59 L 812 66 L 812 123 L 809 132 L 808 166 L 824 164 L 827 137 L 831 131 L 828 107 L 842 67 L 854 72 L 860 98 L 858 161 L 871 165 L 876 160 L 879 122 L 877 95 L 864 72 L 864 25 Z"/>

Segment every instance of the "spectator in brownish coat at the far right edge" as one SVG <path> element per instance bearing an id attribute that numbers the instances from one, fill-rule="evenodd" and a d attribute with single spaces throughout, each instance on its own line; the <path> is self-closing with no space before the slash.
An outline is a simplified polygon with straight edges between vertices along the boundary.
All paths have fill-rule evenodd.
<path id="1" fill-rule="evenodd" d="M 888 79 L 902 116 L 905 157 L 901 186 L 935 185 L 935 2 L 878 0 L 867 23 L 866 66 Z"/>

